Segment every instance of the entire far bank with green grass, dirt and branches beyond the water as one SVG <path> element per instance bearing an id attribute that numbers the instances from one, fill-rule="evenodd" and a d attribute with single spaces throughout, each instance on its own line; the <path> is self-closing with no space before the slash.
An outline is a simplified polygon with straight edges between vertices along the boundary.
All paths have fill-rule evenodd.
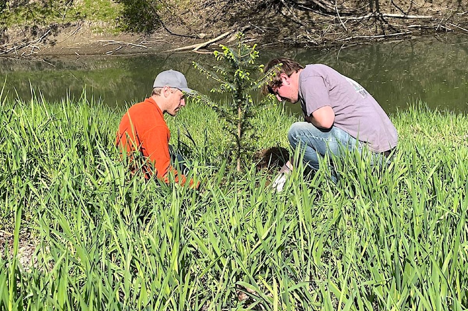
<path id="1" fill-rule="evenodd" d="M 0 0 L 0 55 L 200 50 L 237 31 L 261 47 L 329 48 L 468 35 L 468 13 L 461 0 Z"/>

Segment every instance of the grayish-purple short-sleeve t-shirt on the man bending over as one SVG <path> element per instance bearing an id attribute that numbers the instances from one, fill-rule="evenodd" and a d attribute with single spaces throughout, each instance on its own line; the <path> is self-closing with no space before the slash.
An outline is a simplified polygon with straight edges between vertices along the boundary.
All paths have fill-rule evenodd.
<path id="1" fill-rule="evenodd" d="M 331 106 L 333 126 L 366 143 L 374 152 L 395 147 L 395 127 L 377 101 L 356 81 L 322 65 L 307 65 L 299 75 L 299 100 L 306 116 Z"/>

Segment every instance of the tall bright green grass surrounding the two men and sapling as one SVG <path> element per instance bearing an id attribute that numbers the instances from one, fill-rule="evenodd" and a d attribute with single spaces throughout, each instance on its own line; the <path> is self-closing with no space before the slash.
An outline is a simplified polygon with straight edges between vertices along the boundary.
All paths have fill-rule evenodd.
<path id="1" fill-rule="evenodd" d="M 275 167 L 237 173 L 215 112 L 189 102 L 168 121 L 194 191 L 130 178 L 124 108 L 85 98 L 1 100 L 0 309 L 468 308 L 465 114 L 415 103 L 391 115 L 387 170 L 350 154 L 337 185 L 298 167 L 274 193 Z M 287 147 L 294 120 L 265 106 L 255 148 Z"/>

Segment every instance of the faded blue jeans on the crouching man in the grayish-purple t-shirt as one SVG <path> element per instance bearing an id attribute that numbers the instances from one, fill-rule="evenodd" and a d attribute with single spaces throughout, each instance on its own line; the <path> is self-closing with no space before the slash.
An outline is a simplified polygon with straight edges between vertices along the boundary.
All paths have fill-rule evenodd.
<path id="1" fill-rule="evenodd" d="M 319 129 L 308 122 L 295 122 L 288 132 L 289 143 L 292 148 L 299 149 L 303 154 L 304 163 L 313 170 L 318 170 L 319 158 L 328 154 L 330 160 L 343 158 L 346 152 L 357 150 L 362 152 L 364 144 L 344 130 L 331 127 Z M 331 168 L 331 180 L 337 182 L 337 173 Z"/>

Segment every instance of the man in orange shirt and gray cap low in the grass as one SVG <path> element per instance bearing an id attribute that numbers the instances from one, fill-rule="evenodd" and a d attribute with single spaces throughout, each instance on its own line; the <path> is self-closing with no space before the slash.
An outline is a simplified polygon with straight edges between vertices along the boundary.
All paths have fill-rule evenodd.
<path id="1" fill-rule="evenodd" d="M 146 179 L 156 175 L 167 183 L 168 172 L 173 171 L 176 182 L 185 183 L 185 176 L 178 174 L 171 164 L 171 156 L 178 159 L 180 156 L 170 154 L 170 132 L 163 113 L 175 116 L 185 106 L 185 93 L 192 92 L 182 73 L 166 70 L 156 76 L 151 96 L 124 114 L 116 145 L 129 157 L 132 173 L 141 170 Z M 136 156 L 143 161 L 135 161 Z"/>

